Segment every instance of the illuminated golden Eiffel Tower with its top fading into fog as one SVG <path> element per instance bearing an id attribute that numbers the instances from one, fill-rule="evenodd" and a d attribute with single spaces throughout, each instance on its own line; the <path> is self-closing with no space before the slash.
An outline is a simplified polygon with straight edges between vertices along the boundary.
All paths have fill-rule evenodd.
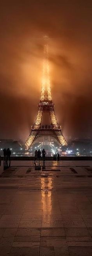
<path id="1" fill-rule="evenodd" d="M 43 78 L 41 88 L 41 98 L 38 104 L 38 113 L 34 125 L 31 127 L 30 135 L 25 143 L 27 150 L 34 142 L 42 136 L 50 136 L 56 139 L 59 145 L 67 145 L 62 134 L 61 126 L 58 125 L 54 111 L 54 104 L 51 97 L 50 73 L 48 61 L 48 37 L 44 36 L 44 63 L 43 63 Z M 42 115 L 47 111 L 50 114 L 51 125 L 41 125 Z"/>

